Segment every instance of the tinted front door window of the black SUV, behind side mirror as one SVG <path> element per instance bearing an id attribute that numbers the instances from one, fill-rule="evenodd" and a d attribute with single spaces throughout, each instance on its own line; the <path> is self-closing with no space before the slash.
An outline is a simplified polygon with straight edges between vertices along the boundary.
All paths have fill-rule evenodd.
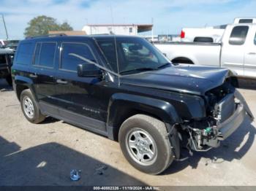
<path id="1" fill-rule="evenodd" d="M 70 54 L 80 55 L 86 59 L 97 62 L 88 45 L 63 43 L 61 53 L 61 69 L 77 71 L 78 64 L 84 63 L 84 61 L 80 58 Z"/>

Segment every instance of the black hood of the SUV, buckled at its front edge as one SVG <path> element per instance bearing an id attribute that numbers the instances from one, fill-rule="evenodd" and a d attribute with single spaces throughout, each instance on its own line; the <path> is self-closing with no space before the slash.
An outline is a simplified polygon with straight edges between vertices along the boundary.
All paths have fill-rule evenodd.
<path id="1" fill-rule="evenodd" d="M 234 74 L 229 69 L 179 65 L 122 76 L 120 81 L 127 85 L 205 95 L 208 90 L 222 85 L 232 75 Z"/>

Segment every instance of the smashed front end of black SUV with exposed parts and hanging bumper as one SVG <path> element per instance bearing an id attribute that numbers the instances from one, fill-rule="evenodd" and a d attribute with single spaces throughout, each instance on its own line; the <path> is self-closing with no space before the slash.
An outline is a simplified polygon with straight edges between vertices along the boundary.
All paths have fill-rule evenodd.
<path id="1" fill-rule="evenodd" d="M 189 135 L 186 145 L 189 151 L 203 152 L 219 147 L 220 141 L 227 139 L 244 122 L 246 114 L 254 119 L 243 96 L 228 82 L 208 91 L 206 103 L 207 117 L 182 125 Z"/>

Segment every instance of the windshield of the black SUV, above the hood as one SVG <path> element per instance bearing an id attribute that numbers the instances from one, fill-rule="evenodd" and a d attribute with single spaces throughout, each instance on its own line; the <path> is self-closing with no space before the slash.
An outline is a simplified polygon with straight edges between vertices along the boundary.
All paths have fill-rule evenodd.
<path id="1" fill-rule="evenodd" d="M 116 41 L 114 38 L 97 39 L 97 44 L 110 68 L 119 74 L 157 70 L 170 65 L 170 61 L 146 39 L 118 36 Z"/>

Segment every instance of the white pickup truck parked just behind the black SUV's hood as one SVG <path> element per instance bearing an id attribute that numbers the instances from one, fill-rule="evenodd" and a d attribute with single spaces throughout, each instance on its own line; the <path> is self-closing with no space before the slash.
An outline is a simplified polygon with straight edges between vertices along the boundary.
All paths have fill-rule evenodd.
<path id="1" fill-rule="evenodd" d="M 256 78 L 256 24 L 227 25 L 221 43 L 179 42 L 155 44 L 173 63 L 217 66 L 238 76 Z"/>

